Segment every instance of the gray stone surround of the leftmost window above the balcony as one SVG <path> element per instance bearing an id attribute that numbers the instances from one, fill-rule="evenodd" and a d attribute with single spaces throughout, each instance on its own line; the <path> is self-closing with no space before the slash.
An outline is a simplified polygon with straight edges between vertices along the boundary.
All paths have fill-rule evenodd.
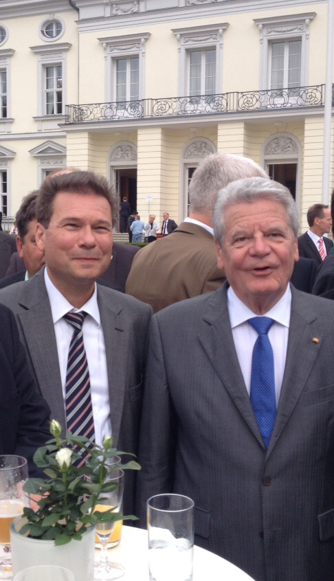
<path id="1" fill-rule="evenodd" d="M 119 58 L 139 58 L 139 99 L 145 98 L 145 47 L 150 32 L 98 38 L 104 48 L 105 101 L 116 102 L 116 61 Z"/>

